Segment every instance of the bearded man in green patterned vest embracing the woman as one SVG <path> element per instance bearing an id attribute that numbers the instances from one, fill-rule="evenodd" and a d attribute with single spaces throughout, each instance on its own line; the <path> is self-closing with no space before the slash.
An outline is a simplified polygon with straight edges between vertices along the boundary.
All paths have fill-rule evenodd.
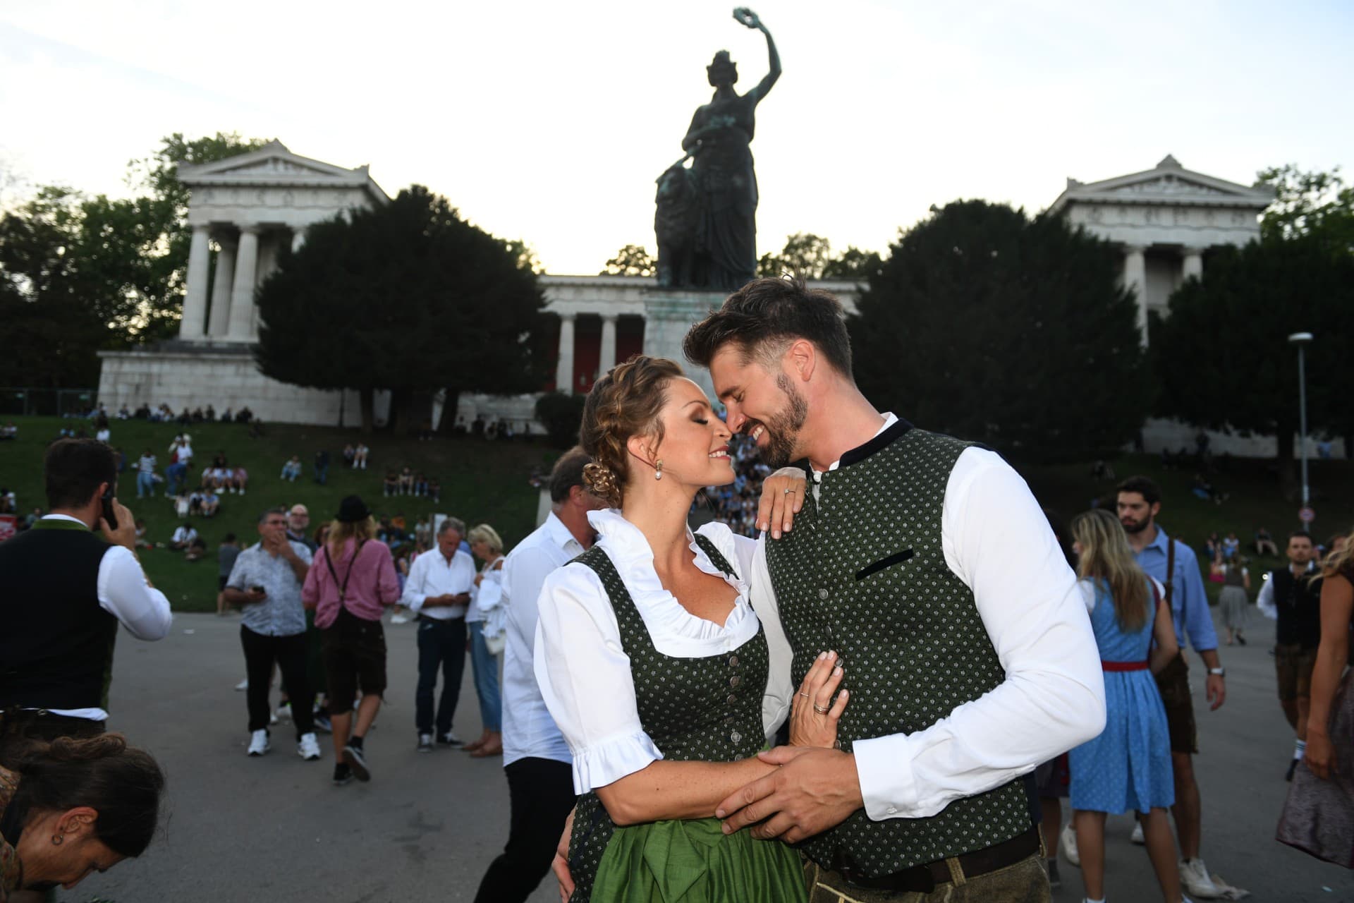
<path id="1" fill-rule="evenodd" d="M 1048 900 L 1024 777 L 1104 730 L 1105 688 L 1029 487 L 994 452 L 876 410 L 841 305 L 802 282 L 749 283 L 684 351 L 730 429 L 808 477 L 753 571 L 783 632 L 783 704 L 822 651 L 850 689 L 839 749 L 762 753 L 780 768 L 720 804 L 726 830 L 802 842 L 815 903 Z"/>

